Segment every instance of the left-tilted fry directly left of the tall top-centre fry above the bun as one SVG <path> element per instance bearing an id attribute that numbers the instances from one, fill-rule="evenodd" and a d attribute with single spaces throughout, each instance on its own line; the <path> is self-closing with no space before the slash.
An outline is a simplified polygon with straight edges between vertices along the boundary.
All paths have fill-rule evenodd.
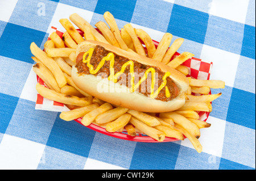
<path id="1" fill-rule="evenodd" d="M 98 30 L 101 31 L 102 35 L 105 37 L 105 39 L 112 44 L 115 47 L 120 48 L 117 39 L 115 39 L 114 34 L 109 29 L 109 27 L 106 25 L 106 23 L 99 21 L 95 24 L 95 26 L 98 28 Z"/>

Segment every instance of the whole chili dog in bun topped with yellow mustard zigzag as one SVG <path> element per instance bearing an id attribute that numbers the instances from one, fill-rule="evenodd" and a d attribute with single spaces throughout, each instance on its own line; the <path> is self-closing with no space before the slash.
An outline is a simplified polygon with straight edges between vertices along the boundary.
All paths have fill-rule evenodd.
<path id="1" fill-rule="evenodd" d="M 73 82 L 99 99 L 142 112 L 174 111 L 185 103 L 188 78 L 159 61 L 89 40 L 77 45 L 76 56 Z"/>

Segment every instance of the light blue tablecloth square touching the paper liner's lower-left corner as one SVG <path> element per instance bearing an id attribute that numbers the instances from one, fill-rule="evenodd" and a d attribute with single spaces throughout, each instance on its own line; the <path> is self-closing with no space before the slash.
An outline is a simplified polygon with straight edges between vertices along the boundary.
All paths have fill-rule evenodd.
<path id="1" fill-rule="evenodd" d="M 6 133 L 45 145 L 56 116 L 57 112 L 35 110 L 34 102 L 20 98 Z"/>

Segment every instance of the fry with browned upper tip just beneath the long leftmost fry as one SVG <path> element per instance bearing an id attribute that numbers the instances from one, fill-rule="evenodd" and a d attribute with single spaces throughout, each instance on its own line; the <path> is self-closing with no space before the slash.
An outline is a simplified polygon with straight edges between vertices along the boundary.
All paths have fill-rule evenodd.
<path id="1" fill-rule="evenodd" d="M 56 79 L 53 77 L 51 71 L 46 68 L 41 62 L 33 65 L 34 72 L 46 83 L 49 89 L 60 92 L 60 87 L 58 86 Z"/>

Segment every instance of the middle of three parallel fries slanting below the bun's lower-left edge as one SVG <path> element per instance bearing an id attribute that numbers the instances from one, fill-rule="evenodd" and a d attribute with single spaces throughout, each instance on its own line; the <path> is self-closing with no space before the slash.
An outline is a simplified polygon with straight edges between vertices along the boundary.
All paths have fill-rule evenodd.
<path id="1" fill-rule="evenodd" d="M 124 113 L 128 111 L 127 108 L 124 107 L 117 107 L 112 110 L 106 111 L 100 115 L 98 115 L 95 119 L 96 123 L 104 124 L 110 121 L 117 119 L 118 117 L 122 116 Z"/>

